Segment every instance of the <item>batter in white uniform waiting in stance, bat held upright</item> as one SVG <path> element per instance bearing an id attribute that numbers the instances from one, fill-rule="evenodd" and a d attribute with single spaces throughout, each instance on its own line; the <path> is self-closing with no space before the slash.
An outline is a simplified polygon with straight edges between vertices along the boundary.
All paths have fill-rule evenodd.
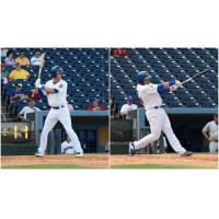
<path id="1" fill-rule="evenodd" d="M 60 122 L 66 129 L 69 138 L 71 139 L 72 145 L 74 146 L 76 157 L 83 157 L 83 150 L 81 148 L 78 136 L 71 127 L 71 117 L 67 105 L 67 82 L 61 79 L 62 68 L 55 66 L 51 69 L 53 79 L 47 81 L 45 84 L 41 84 L 41 79 L 37 79 L 35 87 L 42 89 L 43 93 L 47 96 L 48 105 L 50 111 L 46 117 L 44 128 L 41 136 L 41 145 L 36 157 L 44 157 L 47 137 L 49 131 L 54 128 L 57 122 Z"/>

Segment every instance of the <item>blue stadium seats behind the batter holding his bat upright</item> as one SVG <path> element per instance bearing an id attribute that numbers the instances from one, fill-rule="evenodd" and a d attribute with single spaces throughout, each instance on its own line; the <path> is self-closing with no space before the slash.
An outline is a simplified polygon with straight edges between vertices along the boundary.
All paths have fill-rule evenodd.
<path id="1" fill-rule="evenodd" d="M 97 92 L 107 101 L 108 87 L 108 48 L 12 48 L 16 57 L 21 51 L 24 51 L 26 57 L 31 59 L 35 50 L 46 53 L 45 66 L 42 71 L 42 82 L 45 83 L 50 79 L 50 68 L 55 65 L 60 65 L 65 71 L 64 79 L 69 83 L 68 94 L 74 108 L 87 108 L 87 96 L 91 92 Z M 30 68 L 23 67 L 30 71 L 31 78 L 27 82 L 22 81 L 25 90 L 34 88 L 34 82 L 38 77 L 38 66 Z M 13 67 L 9 68 L 12 70 Z M 3 87 L 7 93 L 20 82 L 11 82 Z M 87 85 L 90 83 L 90 85 Z M 80 104 L 78 104 L 80 102 Z M 19 103 L 20 104 L 20 103 Z M 76 105 L 78 104 L 78 105 Z M 42 110 L 47 108 L 47 105 L 36 103 Z"/>

